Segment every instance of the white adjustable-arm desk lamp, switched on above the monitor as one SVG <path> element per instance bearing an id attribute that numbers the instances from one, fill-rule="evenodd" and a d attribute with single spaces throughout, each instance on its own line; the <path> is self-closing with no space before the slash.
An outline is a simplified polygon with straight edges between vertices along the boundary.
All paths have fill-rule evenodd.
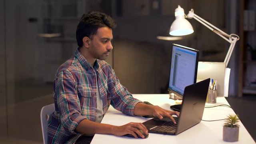
<path id="1" fill-rule="evenodd" d="M 172 35 L 172 36 L 184 36 L 184 35 L 192 34 L 194 32 L 192 25 L 185 18 L 189 18 L 189 19 L 194 18 L 195 20 L 197 20 L 198 22 L 200 22 L 201 24 L 203 24 L 204 26 L 206 26 L 207 28 L 212 30 L 212 32 L 215 32 L 216 34 L 218 34 L 219 36 L 224 38 L 224 40 L 226 40 L 230 43 L 228 53 L 227 53 L 226 58 L 224 60 L 224 63 L 227 67 L 230 56 L 231 56 L 231 54 L 233 52 L 233 49 L 234 49 L 234 46 L 236 44 L 236 41 L 239 40 L 239 36 L 236 35 L 236 34 L 226 34 L 225 32 L 223 32 L 222 30 L 220 30 L 216 26 L 210 24 L 209 22 L 207 22 L 203 18 L 196 15 L 194 13 L 193 9 L 191 9 L 188 12 L 187 15 L 184 14 L 184 9 L 181 8 L 180 5 L 178 5 L 178 8 L 175 9 L 175 20 L 174 20 L 174 22 L 172 23 L 172 25 L 170 27 L 170 35 Z"/>

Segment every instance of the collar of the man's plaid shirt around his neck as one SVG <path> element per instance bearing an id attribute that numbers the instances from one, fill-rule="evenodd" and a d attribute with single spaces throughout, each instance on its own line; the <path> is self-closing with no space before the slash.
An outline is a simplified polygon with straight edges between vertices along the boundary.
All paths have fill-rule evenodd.
<path id="1" fill-rule="evenodd" d="M 98 59 L 96 59 L 94 66 L 92 67 L 90 65 L 90 63 L 84 58 L 84 56 L 82 55 L 82 53 L 80 52 L 79 48 L 77 48 L 74 56 L 78 59 L 78 61 L 80 62 L 80 64 L 86 69 L 89 70 L 90 68 L 94 68 L 94 70 L 97 70 L 99 67 L 98 64 Z"/>

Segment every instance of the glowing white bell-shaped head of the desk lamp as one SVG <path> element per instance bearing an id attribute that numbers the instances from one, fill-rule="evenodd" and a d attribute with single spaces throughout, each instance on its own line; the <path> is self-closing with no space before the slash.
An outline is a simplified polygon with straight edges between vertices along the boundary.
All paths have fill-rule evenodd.
<path id="1" fill-rule="evenodd" d="M 170 27 L 170 35 L 184 36 L 194 32 L 192 25 L 185 19 L 184 9 L 178 5 L 175 9 L 175 20 Z"/>

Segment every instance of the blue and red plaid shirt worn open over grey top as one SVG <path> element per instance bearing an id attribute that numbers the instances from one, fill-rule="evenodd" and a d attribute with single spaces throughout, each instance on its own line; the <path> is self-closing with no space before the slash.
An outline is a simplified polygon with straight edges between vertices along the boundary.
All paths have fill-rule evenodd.
<path id="1" fill-rule="evenodd" d="M 96 120 L 97 86 L 104 114 L 111 104 L 116 110 L 134 116 L 134 106 L 140 101 L 133 98 L 120 84 L 108 63 L 96 60 L 93 68 L 78 48 L 74 56 L 56 72 L 55 112 L 51 114 L 48 122 L 49 144 L 73 144 L 82 135 L 75 131 L 79 122 L 84 119 L 93 122 Z"/>

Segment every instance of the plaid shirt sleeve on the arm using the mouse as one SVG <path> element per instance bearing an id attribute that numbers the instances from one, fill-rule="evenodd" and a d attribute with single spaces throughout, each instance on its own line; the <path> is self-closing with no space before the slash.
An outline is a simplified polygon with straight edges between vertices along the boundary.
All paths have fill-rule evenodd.
<path id="1" fill-rule="evenodd" d="M 77 84 L 73 74 L 68 70 L 61 71 L 58 76 L 55 92 L 61 124 L 67 131 L 79 134 L 74 130 L 86 118 L 80 114 L 80 101 L 77 96 Z"/>

